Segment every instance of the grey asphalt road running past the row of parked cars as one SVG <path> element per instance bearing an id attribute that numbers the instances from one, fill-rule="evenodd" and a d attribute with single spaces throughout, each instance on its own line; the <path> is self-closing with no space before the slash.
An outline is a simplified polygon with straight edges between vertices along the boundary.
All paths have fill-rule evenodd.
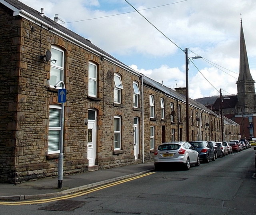
<path id="1" fill-rule="evenodd" d="M 254 150 L 168 169 L 72 199 L 0 205 L 4 215 L 255 215 Z"/>

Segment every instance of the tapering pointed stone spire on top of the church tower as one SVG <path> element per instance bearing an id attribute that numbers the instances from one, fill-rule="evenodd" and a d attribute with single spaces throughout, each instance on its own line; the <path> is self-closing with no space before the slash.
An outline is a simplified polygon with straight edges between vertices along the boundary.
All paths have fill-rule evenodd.
<path id="1" fill-rule="evenodd" d="M 252 75 L 250 73 L 248 57 L 246 52 L 246 45 L 244 40 L 244 31 L 241 18 L 241 32 L 240 32 L 240 69 L 238 82 L 240 81 L 252 81 Z"/>

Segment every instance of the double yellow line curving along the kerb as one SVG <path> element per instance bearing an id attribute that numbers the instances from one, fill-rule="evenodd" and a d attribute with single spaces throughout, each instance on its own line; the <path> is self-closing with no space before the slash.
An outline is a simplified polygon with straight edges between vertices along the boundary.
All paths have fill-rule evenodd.
<path id="1" fill-rule="evenodd" d="M 143 175 L 138 175 L 138 176 L 131 177 L 131 178 L 128 178 L 128 179 L 123 179 L 123 180 L 120 180 L 120 181 L 116 181 L 116 182 L 113 182 L 113 183 L 102 185 L 100 187 L 92 188 L 92 189 L 89 189 L 87 191 L 81 191 L 81 192 L 73 193 L 73 194 L 70 194 L 70 195 L 63 195 L 63 196 L 60 196 L 60 197 L 54 197 L 54 198 L 50 198 L 50 199 L 38 199 L 38 200 L 31 200 L 31 201 L 16 201 L 16 202 L 0 201 L 0 205 L 29 205 L 29 204 L 48 203 L 48 202 L 52 202 L 52 201 L 71 199 L 71 198 L 86 195 L 88 193 L 92 193 L 92 192 L 95 192 L 95 191 L 98 191 L 98 190 L 101 190 L 101 189 L 105 189 L 105 188 L 108 188 L 108 187 L 113 187 L 113 186 L 116 186 L 118 184 L 126 183 L 128 181 L 132 181 L 132 180 L 135 180 L 135 179 L 138 179 L 138 178 L 141 178 L 141 177 L 145 177 L 145 176 L 151 175 L 153 173 L 155 173 L 155 172 L 145 173 Z"/>

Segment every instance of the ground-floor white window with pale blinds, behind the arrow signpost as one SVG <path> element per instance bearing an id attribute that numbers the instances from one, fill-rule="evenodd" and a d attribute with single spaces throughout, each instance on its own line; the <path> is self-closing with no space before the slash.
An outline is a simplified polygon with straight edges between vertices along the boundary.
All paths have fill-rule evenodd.
<path id="1" fill-rule="evenodd" d="M 52 110 L 57 109 L 59 111 L 59 119 L 55 119 L 55 123 L 57 121 L 59 121 L 59 126 L 51 126 L 51 123 L 50 123 L 50 121 L 52 120 L 52 119 L 50 119 L 51 109 Z M 50 109 L 49 109 L 49 128 L 48 128 L 48 147 L 47 147 L 47 154 L 48 155 L 60 153 L 60 129 L 61 129 L 60 120 L 61 120 L 61 106 L 59 106 L 59 105 L 50 105 Z M 50 133 L 51 133 L 50 131 L 57 131 L 56 132 L 56 133 L 58 133 L 57 135 L 53 134 L 53 137 L 54 137 L 54 135 L 56 136 L 55 139 L 50 138 Z M 53 142 L 53 143 L 50 143 L 50 141 Z"/>

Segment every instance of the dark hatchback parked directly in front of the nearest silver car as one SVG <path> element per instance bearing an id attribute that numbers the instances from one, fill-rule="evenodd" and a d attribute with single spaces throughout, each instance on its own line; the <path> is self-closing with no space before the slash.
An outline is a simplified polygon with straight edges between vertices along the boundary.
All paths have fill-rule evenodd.
<path id="1" fill-rule="evenodd" d="M 210 147 L 207 141 L 189 141 L 189 143 L 196 149 L 199 153 L 200 160 L 205 163 L 209 163 L 210 159 L 215 161 L 214 149 Z"/>

